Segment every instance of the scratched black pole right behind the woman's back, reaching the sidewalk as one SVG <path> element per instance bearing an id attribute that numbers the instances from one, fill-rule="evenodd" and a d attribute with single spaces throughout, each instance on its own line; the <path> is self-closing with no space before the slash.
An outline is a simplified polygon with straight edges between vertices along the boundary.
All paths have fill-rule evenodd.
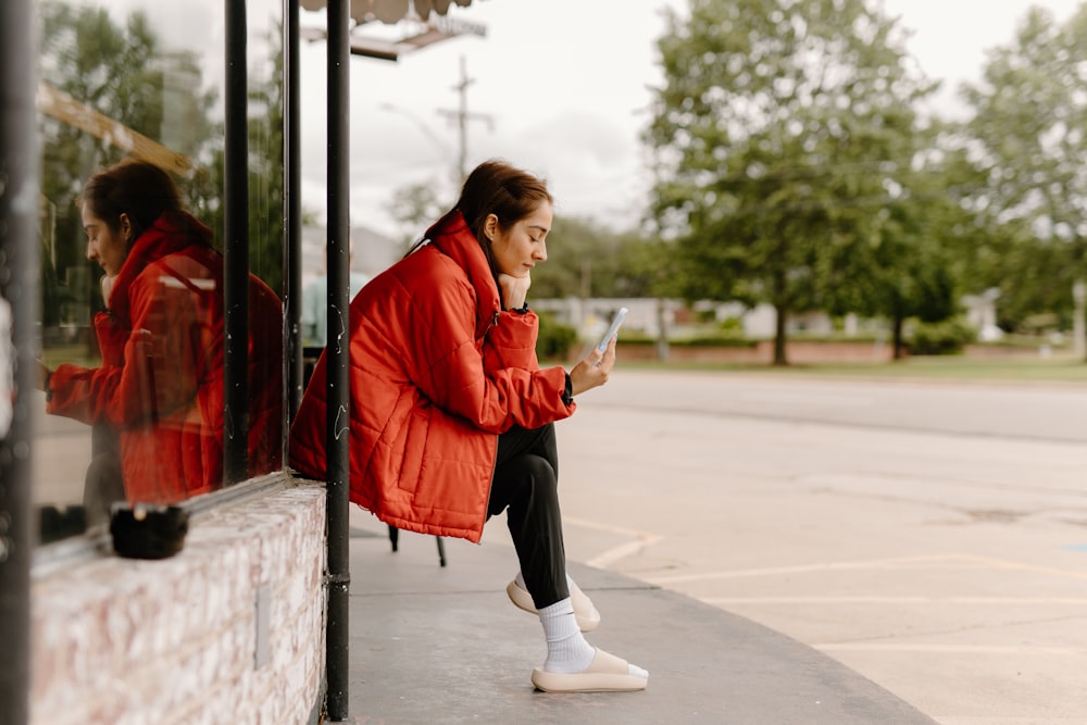
<path id="1" fill-rule="evenodd" d="M 326 364 L 328 490 L 328 716 L 348 716 L 348 595 L 351 585 L 348 539 L 348 267 L 350 265 L 350 4 L 328 1 L 328 330 Z"/>

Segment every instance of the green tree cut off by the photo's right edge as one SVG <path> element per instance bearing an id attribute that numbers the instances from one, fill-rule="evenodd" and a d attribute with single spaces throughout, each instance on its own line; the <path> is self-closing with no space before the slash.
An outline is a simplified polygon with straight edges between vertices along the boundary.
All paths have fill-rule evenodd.
<path id="1" fill-rule="evenodd" d="M 1014 40 L 990 51 L 965 85 L 972 159 L 984 177 L 973 203 L 989 234 L 975 254 L 999 287 L 1000 320 L 1067 315 L 1087 276 L 1087 5 L 1060 26 L 1030 9 Z"/>

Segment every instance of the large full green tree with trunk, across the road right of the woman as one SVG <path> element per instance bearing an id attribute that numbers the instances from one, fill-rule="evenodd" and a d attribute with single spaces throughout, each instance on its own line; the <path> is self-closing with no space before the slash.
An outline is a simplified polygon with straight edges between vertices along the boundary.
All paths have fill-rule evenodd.
<path id="1" fill-rule="evenodd" d="M 908 197 L 913 105 L 936 86 L 863 0 L 690 0 L 666 22 L 645 138 L 677 287 L 773 304 L 786 364 L 789 313 L 871 288 L 877 212 Z"/>

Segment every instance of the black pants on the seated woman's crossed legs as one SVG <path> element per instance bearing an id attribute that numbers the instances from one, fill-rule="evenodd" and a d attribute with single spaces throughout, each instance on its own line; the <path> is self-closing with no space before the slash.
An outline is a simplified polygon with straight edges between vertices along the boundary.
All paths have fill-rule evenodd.
<path id="1" fill-rule="evenodd" d="M 503 510 L 536 609 L 570 597 L 553 424 L 535 430 L 512 428 L 498 437 L 487 517 Z"/>

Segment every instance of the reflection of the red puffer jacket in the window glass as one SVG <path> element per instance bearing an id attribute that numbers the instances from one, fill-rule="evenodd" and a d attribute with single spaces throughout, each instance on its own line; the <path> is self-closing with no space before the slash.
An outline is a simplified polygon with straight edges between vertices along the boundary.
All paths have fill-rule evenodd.
<path id="1" fill-rule="evenodd" d="M 174 503 L 222 486 L 223 257 L 196 218 L 166 214 L 134 242 L 95 316 L 100 367 L 57 366 L 47 411 L 121 433 L 132 503 Z M 250 275 L 249 458 L 282 464 L 283 308 Z"/>

